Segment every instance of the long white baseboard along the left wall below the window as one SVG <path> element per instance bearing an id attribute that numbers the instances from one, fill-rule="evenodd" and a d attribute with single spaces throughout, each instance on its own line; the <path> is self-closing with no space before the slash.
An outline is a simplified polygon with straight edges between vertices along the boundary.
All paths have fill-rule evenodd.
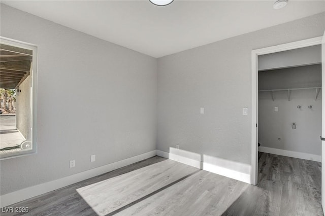
<path id="1" fill-rule="evenodd" d="M 12 205 L 14 203 L 29 199 L 31 197 L 35 197 L 50 191 L 54 191 L 56 189 L 66 187 L 68 185 L 72 185 L 83 181 L 85 179 L 94 177 L 96 175 L 104 174 L 106 172 L 121 168 L 123 166 L 127 166 L 133 163 L 136 163 L 141 160 L 145 160 L 147 158 L 153 157 L 157 155 L 156 150 L 147 152 L 141 155 L 137 155 L 131 158 L 127 158 L 124 160 L 120 160 L 111 164 L 107 164 L 104 166 L 96 167 L 84 172 L 80 172 L 74 175 L 70 175 L 67 177 L 59 178 L 51 182 L 43 183 L 40 185 L 32 186 L 29 188 L 24 188 L 19 191 L 15 191 L 9 194 L 2 195 L 0 197 L 0 207 L 5 207 L 8 205 Z"/>

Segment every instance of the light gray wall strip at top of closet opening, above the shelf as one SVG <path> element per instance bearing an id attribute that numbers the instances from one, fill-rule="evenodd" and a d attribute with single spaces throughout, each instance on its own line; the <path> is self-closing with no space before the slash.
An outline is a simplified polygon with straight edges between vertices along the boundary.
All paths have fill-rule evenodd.
<path id="1" fill-rule="evenodd" d="M 321 45 L 258 56 L 258 70 L 321 63 Z"/>

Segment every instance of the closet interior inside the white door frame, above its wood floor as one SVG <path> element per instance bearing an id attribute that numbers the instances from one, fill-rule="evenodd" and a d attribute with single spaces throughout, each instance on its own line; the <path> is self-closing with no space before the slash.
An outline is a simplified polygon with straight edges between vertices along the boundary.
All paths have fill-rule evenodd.
<path id="1" fill-rule="evenodd" d="M 258 56 L 258 152 L 321 162 L 320 90 L 321 45 Z"/>

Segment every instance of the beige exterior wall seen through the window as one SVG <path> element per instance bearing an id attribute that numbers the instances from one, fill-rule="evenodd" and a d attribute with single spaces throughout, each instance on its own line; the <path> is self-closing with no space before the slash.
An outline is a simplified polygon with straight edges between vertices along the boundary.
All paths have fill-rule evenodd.
<path id="1" fill-rule="evenodd" d="M 21 92 L 16 96 L 16 127 L 25 139 L 29 140 L 31 140 L 30 87 L 31 76 L 28 76 L 19 86 Z"/>

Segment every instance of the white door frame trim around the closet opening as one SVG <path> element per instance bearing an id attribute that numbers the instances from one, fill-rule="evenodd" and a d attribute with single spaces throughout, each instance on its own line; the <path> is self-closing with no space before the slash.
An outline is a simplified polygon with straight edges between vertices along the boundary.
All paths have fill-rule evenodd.
<path id="1" fill-rule="evenodd" d="M 257 57 L 270 53 L 277 53 L 286 50 L 294 50 L 303 47 L 320 45 L 322 36 L 302 41 L 291 42 L 287 44 L 266 47 L 262 49 L 252 50 L 252 143 L 251 143 L 251 173 L 250 182 L 257 185 L 257 162 L 258 162 L 258 65 Z M 322 77 L 325 74 L 322 72 Z"/>

